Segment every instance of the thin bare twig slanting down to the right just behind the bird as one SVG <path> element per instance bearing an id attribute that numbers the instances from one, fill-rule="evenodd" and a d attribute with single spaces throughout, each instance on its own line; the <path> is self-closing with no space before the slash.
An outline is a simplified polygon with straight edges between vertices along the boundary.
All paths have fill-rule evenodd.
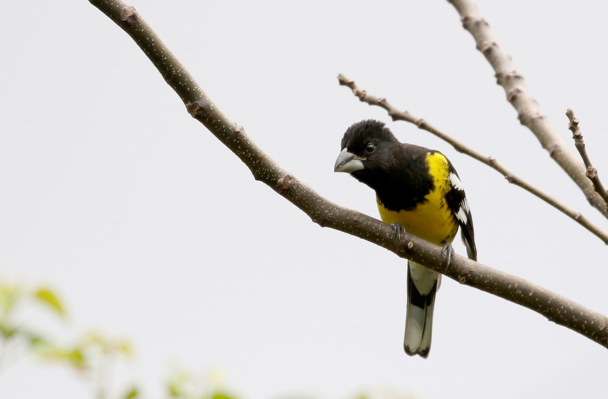
<path id="1" fill-rule="evenodd" d="M 591 223 L 589 220 L 587 220 L 586 217 L 582 216 L 582 214 L 580 214 L 578 212 L 571 210 L 564 204 L 558 202 L 558 200 L 554 199 L 553 197 L 549 196 L 548 194 L 543 193 L 540 189 L 534 187 L 533 185 L 531 185 L 528 182 L 525 182 L 525 180 L 522 180 L 519 177 L 515 176 L 513 173 L 508 171 L 504 166 L 500 165 L 500 163 L 498 163 L 496 159 L 491 158 L 491 157 L 486 157 L 486 156 L 480 154 L 479 152 L 474 151 L 471 148 L 468 148 L 463 143 L 458 142 L 451 136 L 449 136 L 449 135 L 445 134 L 444 132 L 440 131 L 439 129 L 435 128 L 430 123 L 428 123 L 426 120 L 424 120 L 422 118 L 416 118 L 415 116 L 410 114 L 409 111 L 399 111 L 394 106 L 392 106 L 389 103 L 389 101 L 386 100 L 386 98 L 376 97 L 375 95 L 368 94 L 366 90 L 359 89 L 359 87 L 354 83 L 354 80 L 348 79 L 347 77 L 342 75 L 342 73 L 340 73 L 338 75 L 338 81 L 341 86 L 350 87 L 350 89 L 353 90 L 353 94 L 356 97 L 358 97 L 359 100 L 363 101 L 364 103 L 368 103 L 370 105 L 376 105 L 376 106 L 384 108 L 386 111 L 389 112 L 389 116 L 393 120 L 402 120 L 402 121 L 406 121 L 409 123 L 413 123 L 416 126 L 418 126 L 418 128 L 426 130 L 427 132 L 432 133 L 432 134 L 436 135 L 437 137 L 441 138 L 442 140 L 444 140 L 445 142 L 449 143 L 450 145 L 452 145 L 454 147 L 454 149 L 456 151 L 463 152 L 463 154 L 469 155 L 470 157 L 478 160 L 479 162 L 484 163 L 485 165 L 488 165 L 492 169 L 498 171 L 500 174 L 502 174 L 502 176 L 505 176 L 505 179 L 509 183 L 513 183 L 516 186 L 520 186 L 521 188 L 528 191 L 528 193 L 531 193 L 534 196 L 539 197 L 544 202 L 553 206 L 553 208 L 556 208 L 558 211 L 561 211 L 566 216 L 570 217 L 570 219 L 574 220 L 576 223 L 579 223 L 579 225 L 586 228 L 592 234 L 594 234 L 596 237 L 601 239 L 604 242 L 604 244 L 608 245 L 608 234 L 599 230 L 599 228 L 596 227 L 595 225 L 593 225 L 593 223 Z M 582 136 L 581 136 L 581 138 L 582 138 Z"/>

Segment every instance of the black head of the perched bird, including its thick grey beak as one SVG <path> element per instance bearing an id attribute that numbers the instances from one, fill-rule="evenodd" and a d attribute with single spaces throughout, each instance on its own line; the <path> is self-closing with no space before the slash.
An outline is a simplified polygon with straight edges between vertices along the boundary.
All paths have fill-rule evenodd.
<path id="1" fill-rule="evenodd" d="M 376 174 L 384 173 L 387 166 L 393 165 L 398 148 L 398 140 L 381 121 L 368 119 L 354 123 L 342 137 L 342 152 L 334 171 L 348 172 L 370 185 Z"/>

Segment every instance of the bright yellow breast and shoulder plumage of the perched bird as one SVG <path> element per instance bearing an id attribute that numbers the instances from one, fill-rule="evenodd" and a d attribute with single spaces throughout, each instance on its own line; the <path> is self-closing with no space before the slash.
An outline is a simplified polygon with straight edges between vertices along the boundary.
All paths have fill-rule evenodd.
<path id="1" fill-rule="evenodd" d="M 458 231 L 458 222 L 447 206 L 446 193 L 450 191 L 449 165 L 439 152 L 427 153 L 426 164 L 433 178 L 434 188 L 410 211 L 391 211 L 384 208 L 376 197 L 380 217 L 385 223 L 399 223 L 408 233 L 442 246 L 452 242 Z M 407 196 L 407 191 L 403 192 Z"/>

